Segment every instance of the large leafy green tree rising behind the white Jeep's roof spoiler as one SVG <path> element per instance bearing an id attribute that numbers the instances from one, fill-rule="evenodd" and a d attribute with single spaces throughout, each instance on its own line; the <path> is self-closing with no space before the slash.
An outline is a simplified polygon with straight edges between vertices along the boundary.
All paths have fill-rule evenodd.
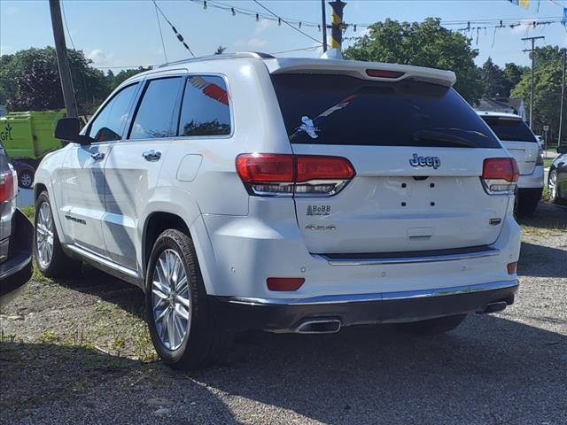
<path id="1" fill-rule="evenodd" d="M 448 69 L 457 75 L 455 89 L 470 103 L 482 96 L 480 73 L 473 59 L 471 39 L 441 27 L 440 19 L 398 22 L 386 19 L 369 27 L 369 33 L 344 52 L 346 58 Z"/>

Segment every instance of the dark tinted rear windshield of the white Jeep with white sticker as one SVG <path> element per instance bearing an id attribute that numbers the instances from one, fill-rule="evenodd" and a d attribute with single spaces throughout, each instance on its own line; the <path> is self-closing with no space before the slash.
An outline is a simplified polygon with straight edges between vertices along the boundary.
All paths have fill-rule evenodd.
<path id="1" fill-rule="evenodd" d="M 272 75 L 291 143 L 501 148 L 454 89 L 346 75 Z"/>

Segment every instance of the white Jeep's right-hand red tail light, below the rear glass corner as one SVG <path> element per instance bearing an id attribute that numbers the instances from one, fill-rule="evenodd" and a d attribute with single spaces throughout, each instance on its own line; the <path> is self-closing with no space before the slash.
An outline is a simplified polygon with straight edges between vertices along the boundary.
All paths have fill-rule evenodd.
<path id="1" fill-rule="evenodd" d="M 520 175 L 514 158 L 486 158 L 482 168 L 482 182 L 486 193 L 501 195 L 514 192 Z"/>

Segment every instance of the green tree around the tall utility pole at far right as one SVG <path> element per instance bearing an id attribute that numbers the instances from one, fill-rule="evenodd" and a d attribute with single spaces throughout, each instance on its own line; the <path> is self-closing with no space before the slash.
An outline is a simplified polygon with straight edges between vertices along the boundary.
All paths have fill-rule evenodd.
<path id="1" fill-rule="evenodd" d="M 542 134 L 543 126 L 548 125 L 550 140 L 556 139 L 559 129 L 564 50 L 560 50 L 558 46 L 545 46 L 536 48 L 534 53 L 535 96 L 533 97 L 532 128 L 536 134 Z M 530 73 L 523 73 L 517 86 L 512 89 L 511 96 L 523 98 L 525 104 L 529 104 L 530 84 Z M 567 122 L 567 108 L 563 108 L 563 122 Z"/>

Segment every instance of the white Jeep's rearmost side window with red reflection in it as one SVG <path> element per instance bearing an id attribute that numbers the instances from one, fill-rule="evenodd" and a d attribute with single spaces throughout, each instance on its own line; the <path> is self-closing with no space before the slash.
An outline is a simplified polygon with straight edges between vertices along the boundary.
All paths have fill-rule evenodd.
<path id="1" fill-rule="evenodd" d="M 191 75 L 183 94 L 179 135 L 229 135 L 227 86 L 221 77 Z"/>

